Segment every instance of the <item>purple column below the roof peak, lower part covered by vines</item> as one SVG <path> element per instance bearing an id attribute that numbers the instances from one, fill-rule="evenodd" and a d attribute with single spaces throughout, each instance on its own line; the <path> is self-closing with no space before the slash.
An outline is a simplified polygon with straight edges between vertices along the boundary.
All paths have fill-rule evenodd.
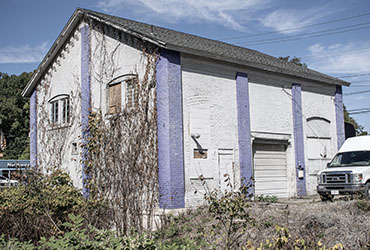
<path id="1" fill-rule="evenodd" d="M 89 136 L 89 114 L 91 108 L 90 101 L 90 29 L 86 25 L 81 28 L 81 129 L 82 129 L 82 144 L 86 144 Z M 89 190 L 86 188 L 86 180 L 88 178 L 86 171 L 85 160 L 88 157 L 86 148 L 82 148 L 82 193 L 85 198 L 89 197 Z"/>

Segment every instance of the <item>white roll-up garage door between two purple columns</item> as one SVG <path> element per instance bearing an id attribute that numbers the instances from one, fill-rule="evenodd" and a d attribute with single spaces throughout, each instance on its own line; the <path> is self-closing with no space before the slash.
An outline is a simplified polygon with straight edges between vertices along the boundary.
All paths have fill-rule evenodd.
<path id="1" fill-rule="evenodd" d="M 288 197 L 285 145 L 253 144 L 256 195 Z"/>

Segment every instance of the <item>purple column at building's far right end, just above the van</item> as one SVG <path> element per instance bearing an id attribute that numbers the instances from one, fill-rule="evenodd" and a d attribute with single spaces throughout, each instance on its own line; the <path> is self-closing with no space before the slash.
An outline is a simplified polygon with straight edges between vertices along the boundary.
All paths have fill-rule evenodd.
<path id="1" fill-rule="evenodd" d="M 337 145 L 338 150 L 345 141 L 344 134 L 344 112 L 343 112 L 343 95 L 342 95 L 342 86 L 337 85 L 335 89 L 335 117 L 337 125 Z"/>

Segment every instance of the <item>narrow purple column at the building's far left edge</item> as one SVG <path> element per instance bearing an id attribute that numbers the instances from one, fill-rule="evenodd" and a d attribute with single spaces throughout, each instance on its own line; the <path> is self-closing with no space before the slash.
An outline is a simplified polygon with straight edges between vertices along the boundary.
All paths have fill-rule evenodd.
<path id="1" fill-rule="evenodd" d="M 37 166 L 37 92 L 36 88 L 30 98 L 30 165 Z"/>

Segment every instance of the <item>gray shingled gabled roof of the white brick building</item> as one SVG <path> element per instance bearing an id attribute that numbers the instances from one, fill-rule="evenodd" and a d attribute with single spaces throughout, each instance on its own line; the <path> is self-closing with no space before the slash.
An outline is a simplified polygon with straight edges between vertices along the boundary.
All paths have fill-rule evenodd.
<path id="1" fill-rule="evenodd" d="M 52 48 L 45 56 L 43 62 L 36 70 L 36 75 L 43 74 L 47 65 L 53 59 L 53 52 L 58 50 L 58 46 L 63 44 L 68 33 L 77 25 L 80 18 L 92 18 L 97 21 L 114 26 L 124 32 L 137 36 L 143 40 L 156 44 L 159 47 L 172 49 L 194 55 L 200 55 L 217 60 L 236 63 L 256 69 L 266 70 L 274 73 L 295 76 L 299 78 L 319 81 L 323 83 L 345 85 L 350 83 L 341 79 L 322 74 L 306 67 L 280 60 L 276 57 L 266 55 L 256 50 L 251 50 L 224 42 L 211 40 L 183 32 L 178 32 L 146 23 L 136 22 L 125 18 L 107 15 L 87 9 L 76 9 L 71 19 L 59 35 Z M 29 96 L 36 85 L 36 79 L 32 77 L 30 83 L 23 90 L 22 95 Z M 33 87 L 32 87 L 33 86 Z"/>

